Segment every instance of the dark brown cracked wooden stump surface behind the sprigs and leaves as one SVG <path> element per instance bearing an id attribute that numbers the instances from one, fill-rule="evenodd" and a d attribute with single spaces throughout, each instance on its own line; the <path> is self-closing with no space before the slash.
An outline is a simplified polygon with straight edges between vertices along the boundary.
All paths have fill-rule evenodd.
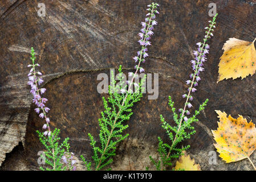
<path id="1" fill-rule="evenodd" d="M 46 5 L 46 16 L 37 14 L 38 3 Z M 256 37 L 255 1 L 158 0 L 159 25 L 143 65 L 147 73 L 159 73 L 159 97 L 143 99 L 133 107 L 134 114 L 125 133 L 130 136 L 117 151 L 113 169 L 151 167 L 148 155 L 156 156 L 157 136 L 166 140 L 159 115 L 173 124 L 168 107 L 172 96 L 176 108 L 182 107 L 185 80 L 192 72 L 190 60 L 196 43 L 204 38 L 208 5 L 217 4 L 217 28 L 210 40 L 210 54 L 202 73 L 198 92 L 193 94 L 193 109 L 209 98 L 209 104 L 195 123 L 197 133 L 187 142 L 188 151 L 203 170 L 253 169 L 247 160 L 225 164 L 217 156 L 217 165 L 209 164 L 209 152 L 216 151 L 210 130 L 217 129 L 214 110 L 233 117 L 242 114 L 256 121 L 255 75 L 243 80 L 225 80 L 218 84 L 218 63 L 222 46 L 229 38 L 252 41 Z M 61 137 L 70 137 L 76 156 L 91 158 L 87 133 L 97 135 L 97 119 L 103 110 L 96 80 L 99 73 L 109 75 L 110 68 L 123 65 L 132 69 L 132 57 L 147 5 L 145 0 L 3 0 L 0 1 L 0 164 L 2 169 L 38 169 L 37 152 L 42 150 L 35 130 L 42 127 L 36 115 L 27 85 L 30 47 L 41 65 L 45 97 L 50 107 L 51 126 L 59 127 Z M 126 71 L 127 73 L 127 71 Z M 7 157 L 6 157 L 7 155 Z M 217 154 L 218 155 L 218 154 Z M 6 159 L 5 159 L 6 158 Z M 253 154 L 253 161 L 256 156 Z M 83 169 L 79 166 L 79 169 Z M 154 168 L 152 168 L 154 169 Z"/>

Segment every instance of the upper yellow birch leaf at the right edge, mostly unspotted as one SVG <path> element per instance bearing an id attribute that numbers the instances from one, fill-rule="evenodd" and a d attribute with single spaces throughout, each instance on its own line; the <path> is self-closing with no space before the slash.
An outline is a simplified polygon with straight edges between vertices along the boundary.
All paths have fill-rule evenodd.
<path id="1" fill-rule="evenodd" d="M 256 39 L 255 39 L 256 40 Z M 254 40 L 254 41 L 255 41 Z M 218 81 L 228 78 L 242 79 L 254 75 L 256 70 L 256 51 L 253 42 L 230 38 L 224 44 L 220 57 Z"/>

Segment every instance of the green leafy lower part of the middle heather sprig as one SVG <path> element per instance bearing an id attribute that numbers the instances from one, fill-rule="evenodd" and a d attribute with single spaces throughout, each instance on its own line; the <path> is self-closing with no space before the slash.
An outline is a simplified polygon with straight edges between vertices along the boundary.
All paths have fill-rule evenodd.
<path id="1" fill-rule="evenodd" d="M 113 162 L 112 156 L 116 155 L 116 146 L 119 142 L 128 137 L 129 134 L 123 134 L 128 125 L 124 125 L 131 117 L 133 105 L 140 101 L 143 96 L 142 92 L 146 76 L 141 80 L 137 92 L 121 93 L 121 89 L 127 89 L 128 85 L 125 84 L 121 65 L 119 68 L 118 80 L 116 83 L 113 72 L 111 72 L 111 85 L 109 85 L 109 97 L 106 100 L 103 97 L 103 105 L 105 110 L 101 111 L 101 118 L 99 119 L 100 126 L 100 144 L 97 146 L 96 140 L 89 133 L 88 136 L 91 140 L 92 150 L 94 155 L 95 170 L 103 169 Z M 130 90 L 131 91 L 131 90 Z M 91 170 L 91 163 L 81 156 L 87 170 Z M 110 168 L 108 168 L 110 169 Z"/>

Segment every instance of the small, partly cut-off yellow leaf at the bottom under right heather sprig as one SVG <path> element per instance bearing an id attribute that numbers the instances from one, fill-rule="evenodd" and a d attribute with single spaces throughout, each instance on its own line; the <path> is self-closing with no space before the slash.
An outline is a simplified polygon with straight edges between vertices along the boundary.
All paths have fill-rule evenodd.
<path id="1" fill-rule="evenodd" d="M 184 155 L 181 155 L 176 162 L 175 170 L 185 169 L 185 171 L 201 171 L 200 165 L 194 163 L 194 159 L 191 159 L 189 155 L 184 151 Z"/>

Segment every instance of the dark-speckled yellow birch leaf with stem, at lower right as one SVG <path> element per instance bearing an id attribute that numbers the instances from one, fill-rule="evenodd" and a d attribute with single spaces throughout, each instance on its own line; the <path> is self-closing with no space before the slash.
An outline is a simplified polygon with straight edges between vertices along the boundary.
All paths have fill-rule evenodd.
<path id="1" fill-rule="evenodd" d="M 256 149 L 256 128 L 253 122 L 247 122 L 242 115 L 234 119 L 225 112 L 216 110 L 220 122 L 218 129 L 212 130 L 214 140 L 217 143 L 214 146 L 220 157 L 226 163 L 236 162 L 242 159 L 249 159 Z M 251 160 L 250 160 L 251 162 Z M 251 162 L 252 163 L 252 162 Z M 253 164 L 253 163 L 252 163 Z M 253 165 L 254 166 L 254 165 Z"/>

